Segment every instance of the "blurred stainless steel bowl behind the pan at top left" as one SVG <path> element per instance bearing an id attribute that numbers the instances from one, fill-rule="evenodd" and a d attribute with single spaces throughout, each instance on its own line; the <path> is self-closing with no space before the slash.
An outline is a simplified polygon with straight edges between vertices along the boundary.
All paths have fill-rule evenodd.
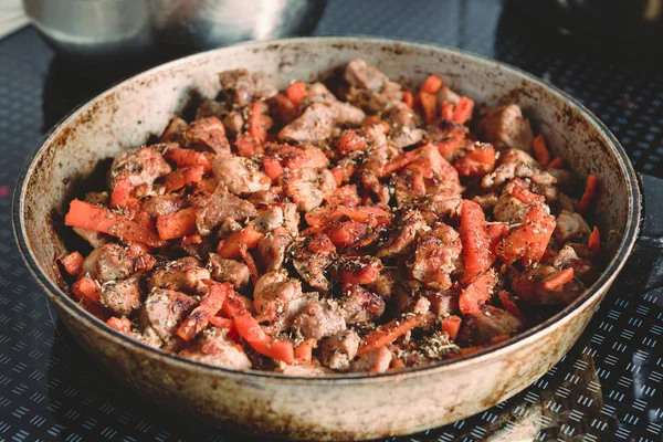
<path id="1" fill-rule="evenodd" d="M 245 40 L 304 35 L 326 0 L 23 0 L 67 59 L 164 60 Z"/>

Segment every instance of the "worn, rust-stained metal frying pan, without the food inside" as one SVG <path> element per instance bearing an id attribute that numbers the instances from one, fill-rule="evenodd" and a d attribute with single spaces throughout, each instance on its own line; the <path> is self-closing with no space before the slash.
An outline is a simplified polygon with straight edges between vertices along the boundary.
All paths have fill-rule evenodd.
<path id="1" fill-rule="evenodd" d="M 318 378 L 234 371 L 166 355 L 131 340 L 80 308 L 59 280 L 63 213 L 99 161 L 159 134 L 191 96 L 214 97 L 217 73 L 236 67 L 271 75 L 280 87 L 314 80 L 361 57 L 392 80 L 441 75 L 477 103 L 518 103 L 580 177 L 599 177 L 596 221 L 606 270 L 559 314 L 476 354 L 380 375 Z M 81 190 L 81 189 L 78 189 Z M 28 160 L 13 202 L 17 241 L 64 325 L 92 358 L 138 394 L 241 432 L 292 439 L 356 440 L 417 432 L 477 413 L 523 390 L 565 355 L 631 253 L 642 191 L 617 139 L 581 104 L 540 80 L 493 60 L 432 45 L 364 38 L 254 42 L 204 52 L 131 77 L 80 107 Z"/>

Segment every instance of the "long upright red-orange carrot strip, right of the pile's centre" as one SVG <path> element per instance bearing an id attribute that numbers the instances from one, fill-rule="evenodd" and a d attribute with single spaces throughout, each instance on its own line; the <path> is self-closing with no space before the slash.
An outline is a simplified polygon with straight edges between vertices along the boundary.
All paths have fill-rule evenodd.
<path id="1" fill-rule="evenodd" d="M 485 272 L 492 262 L 486 219 L 483 209 L 476 202 L 463 200 L 460 230 L 465 264 L 463 283 L 469 284 Z"/>

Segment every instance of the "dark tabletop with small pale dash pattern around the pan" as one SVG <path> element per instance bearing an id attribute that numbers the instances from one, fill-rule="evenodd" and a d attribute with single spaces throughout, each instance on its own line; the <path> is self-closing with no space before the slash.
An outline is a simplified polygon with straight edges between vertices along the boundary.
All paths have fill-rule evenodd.
<path id="1" fill-rule="evenodd" d="M 663 178 L 663 74 L 562 38 L 498 0 L 330 0 L 315 34 L 418 40 L 488 55 L 578 97 L 634 167 Z M 110 382 L 24 267 L 10 193 L 40 137 L 109 80 L 72 72 L 33 29 L 0 40 L 0 441 L 245 440 L 185 423 Z M 663 295 L 611 291 L 573 349 L 524 392 L 403 441 L 662 441 Z M 403 404 L 407 407 L 407 404 Z"/>

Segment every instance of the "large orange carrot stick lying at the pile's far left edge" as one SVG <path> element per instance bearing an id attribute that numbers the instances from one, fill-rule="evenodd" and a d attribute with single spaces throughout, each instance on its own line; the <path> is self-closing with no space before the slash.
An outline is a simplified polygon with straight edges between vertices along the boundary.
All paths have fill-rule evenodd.
<path id="1" fill-rule="evenodd" d="M 126 214 L 112 212 L 80 200 L 73 200 L 70 203 L 70 210 L 64 217 L 64 224 L 108 233 L 123 241 L 135 241 L 154 248 L 165 244 L 156 230 L 128 220 Z"/>

